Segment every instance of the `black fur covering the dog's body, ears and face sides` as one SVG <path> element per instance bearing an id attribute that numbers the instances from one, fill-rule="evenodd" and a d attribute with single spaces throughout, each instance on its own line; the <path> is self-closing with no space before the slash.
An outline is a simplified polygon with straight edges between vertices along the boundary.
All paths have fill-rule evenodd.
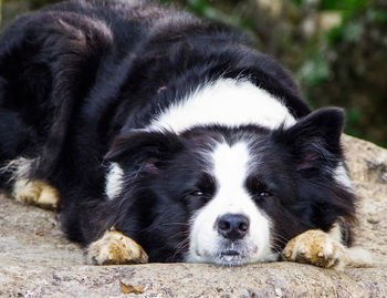
<path id="1" fill-rule="evenodd" d="M 160 106 L 220 76 L 248 78 L 303 120 L 275 131 L 138 131 Z M 280 194 L 257 203 L 275 222 L 276 247 L 310 228 L 328 230 L 338 217 L 354 222 L 354 196 L 330 172 L 343 160 L 343 112 L 310 114 L 287 72 L 244 35 L 187 13 L 80 0 L 18 19 L 0 38 L 0 163 L 35 158 L 30 178 L 59 189 L 63 229 L 83 245 L 115 226 L 151 261 L 181 260 L 188 219 L 210 199 L 190 199 L 189 191 L 216 187 L 200 174 L 205 161 L 197 152 L 221 137 L 254 140 L 265 155 L 266 175 L 251 179 Z M 113 202 L 104 193 L 108 162 L 125 169 L 125 188 Z"/>

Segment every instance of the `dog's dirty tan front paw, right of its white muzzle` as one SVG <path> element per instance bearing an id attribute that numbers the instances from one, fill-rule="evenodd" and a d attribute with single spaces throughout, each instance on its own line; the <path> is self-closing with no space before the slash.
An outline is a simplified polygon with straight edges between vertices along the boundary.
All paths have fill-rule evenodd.
<path id="1" fill-rule="evenodd" d="M 347 263 L 342 244 L 320 229 L 311 229 L 291 239 L 282 251 L 286 260 L 343 269 Z"/>

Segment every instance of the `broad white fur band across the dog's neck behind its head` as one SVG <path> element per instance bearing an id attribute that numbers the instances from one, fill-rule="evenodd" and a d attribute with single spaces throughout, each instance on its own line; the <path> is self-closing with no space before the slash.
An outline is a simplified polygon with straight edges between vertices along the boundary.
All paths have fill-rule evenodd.
<path id="1" fill-rule="evenodd" d="M 281 100 L 249 81 L 220 79 L 199 88 L 166 111 L 160 111 L 148 129 L 181 133 L 200 124 L 258 124 L 275 129 L 282 123 L 291 126 L 295 120 Z"/>

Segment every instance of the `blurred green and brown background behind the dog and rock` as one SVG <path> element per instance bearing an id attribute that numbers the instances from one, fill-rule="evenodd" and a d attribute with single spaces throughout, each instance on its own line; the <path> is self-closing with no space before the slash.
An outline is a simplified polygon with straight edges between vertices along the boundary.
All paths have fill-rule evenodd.
<path id="1" fill-rule="evenodd" d="M 0 0 L 1 28 L 57 0 Z M 161 0 L 238 27 L 292 71 L 313 107 L 346 110 L 346 133 L 387 146 L 387 0 Z"/>

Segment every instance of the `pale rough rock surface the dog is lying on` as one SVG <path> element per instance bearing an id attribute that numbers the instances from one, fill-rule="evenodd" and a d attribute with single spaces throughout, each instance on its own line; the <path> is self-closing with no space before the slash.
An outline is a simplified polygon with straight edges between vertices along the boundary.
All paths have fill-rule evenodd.
<path id="1" fill-rule="evenodd" d="M 0 196 L 0 297 L 387 297 L 387 151 L 344 136 L 358 194 L 357 245 L 370 268 L 344 271 L 295 263 L 85 266 L 55 214 Z M 122 284 L 144 290 L 124 294 Z"/>

